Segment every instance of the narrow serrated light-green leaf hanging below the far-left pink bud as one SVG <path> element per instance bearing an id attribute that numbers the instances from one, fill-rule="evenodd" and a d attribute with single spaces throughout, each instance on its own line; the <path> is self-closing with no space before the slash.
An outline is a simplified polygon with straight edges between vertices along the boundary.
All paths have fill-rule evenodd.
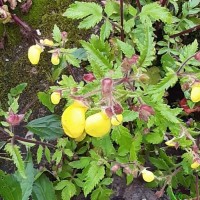
<path id="1" fill-rule="evenodd" d="M 20 175 L 23 178 L 26 178 L 25 174 L 25 167 L 24 167 L 24 161 L 22 160 L 21 152 L 19 150 L 19 146 L 12 145 L 11 143 L 6 144 L 5 151 L 10 154 L 12 157 L 12 160 L 14 161 Z"/>

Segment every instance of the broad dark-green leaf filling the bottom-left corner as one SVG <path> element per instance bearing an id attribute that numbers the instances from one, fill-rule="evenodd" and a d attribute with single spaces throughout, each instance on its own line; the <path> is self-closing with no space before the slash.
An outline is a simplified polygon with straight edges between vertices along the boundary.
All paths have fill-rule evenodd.
<path id="1" fill-rule="evenodd" d="M 13 175 L 6 175 L 0 170 L 0 196 L 3 200 L 22 200 L 20 183 Z"/>

